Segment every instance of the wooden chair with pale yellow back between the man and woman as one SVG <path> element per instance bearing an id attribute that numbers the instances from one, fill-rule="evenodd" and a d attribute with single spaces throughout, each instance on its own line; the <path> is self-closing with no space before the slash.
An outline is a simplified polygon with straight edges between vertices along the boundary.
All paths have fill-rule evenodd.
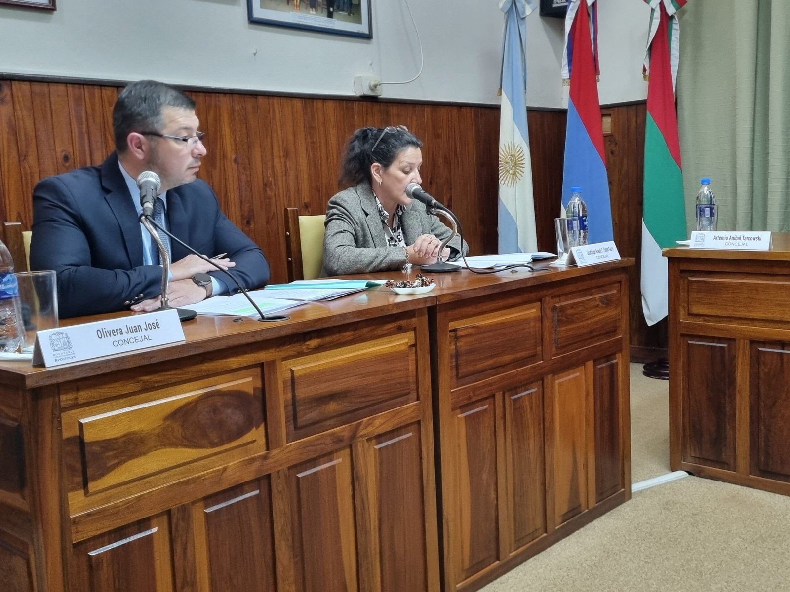
<path id="1" fill-rule="evenodd" d="M 288 281 L 315 279 L 324 263 L 325 215 L 299 215 L 299 208 L 285 208 L 285 255 Z"/>

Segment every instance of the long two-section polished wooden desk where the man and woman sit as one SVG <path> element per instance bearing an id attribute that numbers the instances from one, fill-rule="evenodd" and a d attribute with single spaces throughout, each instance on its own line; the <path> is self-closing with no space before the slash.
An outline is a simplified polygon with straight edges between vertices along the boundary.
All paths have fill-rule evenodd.
<path id="1" fill-rule="evenodd" d="M 0 582 L 411 592 L 441 556 L 446 590 L 482 586 L 630 496 L 629 264 L 0 364 Z"/>

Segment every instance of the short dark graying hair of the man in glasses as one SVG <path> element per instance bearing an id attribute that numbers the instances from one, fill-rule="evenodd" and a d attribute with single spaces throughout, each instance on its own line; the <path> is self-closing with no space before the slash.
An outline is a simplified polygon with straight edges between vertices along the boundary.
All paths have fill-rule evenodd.
<path id="1" fill-rule="evenodd" d="M 183 92 L 156 81 L 133 82 L 121 91 L 112 109 L 115 149 L 126 152 L 132 132 L 157 132 L 164 127 L 162 107 L 194 111 L 195 102 Z"/>

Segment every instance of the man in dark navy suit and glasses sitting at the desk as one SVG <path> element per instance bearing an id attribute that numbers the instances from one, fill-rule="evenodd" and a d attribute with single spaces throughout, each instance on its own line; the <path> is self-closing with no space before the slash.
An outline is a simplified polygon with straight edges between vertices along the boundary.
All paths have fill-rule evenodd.
<path id="1" fill-rule="evenodd" d="M 166 84 L 130 84 L 113 109 L 115 152 L 100 167 L 71 170 L 36 185 L 30 265 L 57 272 L 61 317 L 159 308 L 159 253 L 139 221 L 136 179 L 145 170 L 161 179 L 157 208 L 164 208 L 167 230 L 199 253 L 223 255 L 216 262 L 246 288 L 269 280 L 261 249 L 220 211 L 209 185 L 196 179 L 206 150 L 194 107 L 192 99 Z M 170 249 L 172 306 L 237 290 L 177 242 Z"/>

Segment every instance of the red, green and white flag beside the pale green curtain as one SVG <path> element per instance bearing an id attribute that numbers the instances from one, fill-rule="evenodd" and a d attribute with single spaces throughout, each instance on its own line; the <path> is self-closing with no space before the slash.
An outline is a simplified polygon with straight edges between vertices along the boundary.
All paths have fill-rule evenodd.
<path id="1" fill-rule="evenodd" d="M 687 237 L 680 167 L 675 81 L 680 28 L 676 13 L 687 0 L 644 0 L 650 8 L 647 54 L 649 77 L 645 122 L 644 213 L 642 215 L 642 311 L 652 325 L 667 316 L 667 259 L 661 249 Z"/>

